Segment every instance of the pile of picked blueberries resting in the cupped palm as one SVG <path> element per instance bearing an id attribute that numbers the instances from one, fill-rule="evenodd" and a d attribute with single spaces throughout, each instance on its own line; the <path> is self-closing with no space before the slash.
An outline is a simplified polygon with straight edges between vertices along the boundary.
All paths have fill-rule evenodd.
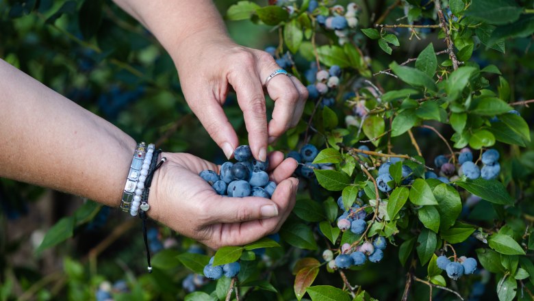
<path id="1" fill-rule="evenodd" d="M 203 170 L 199 175 L 221 196 L 243 198 L 259 196 L 270 198 L 277 187 L 269 181 L 267 169 L 269 160 L 257 161 L 252 157 L 248 145 L 238 146 L 233 153 L 237 163 L 227 161 L 220 166 L 220 174 L 213 170 Z"/>

